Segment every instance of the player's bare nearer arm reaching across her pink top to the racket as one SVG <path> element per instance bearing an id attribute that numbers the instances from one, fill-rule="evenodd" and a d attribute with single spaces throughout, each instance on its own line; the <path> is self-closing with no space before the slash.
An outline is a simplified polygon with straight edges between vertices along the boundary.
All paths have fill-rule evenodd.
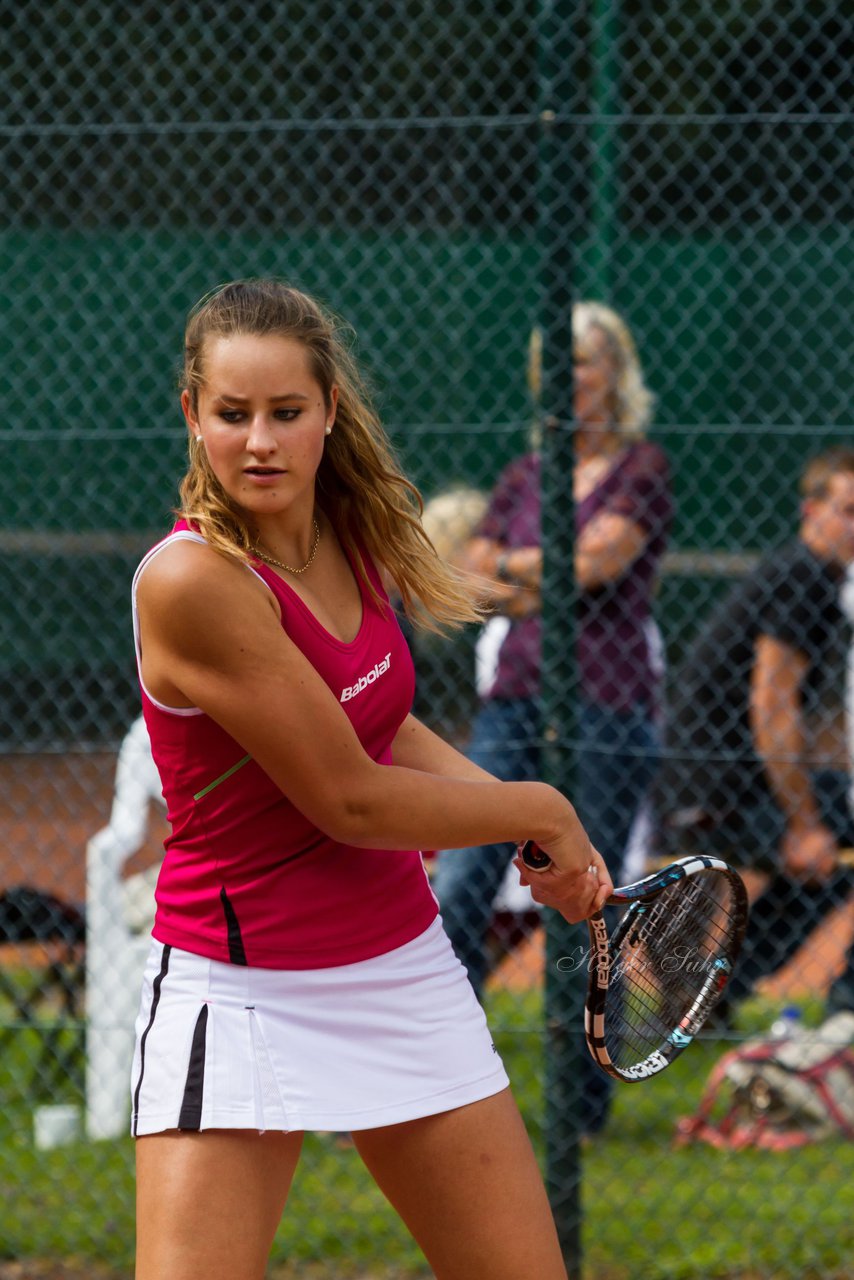
<path id="1" fill-rule="evenodd" d="M 451 849 L 534 838 L 556 863 L 549 888 L 581 919 L 602 897 L 599 863 L 572 805 L 540 782 L 497 782 L 452 768 L 410 724 L 399 759 L 376 764 L 343 708 L 292 644 L 269 593 L 206 547 L 161 553 L 138 589 L 146 685 L 205 710 L 321 831 L 375 849 Z M 408 724 L 410 722 L 407 722 Z M 311 732 L 306 732 L 311 726 Z M 451 751 L 452 749 L 448 749 Z M 431 758 L 442 773 L 423 767 Z M 607 882 L 604 864 L 600 883 Z"/>

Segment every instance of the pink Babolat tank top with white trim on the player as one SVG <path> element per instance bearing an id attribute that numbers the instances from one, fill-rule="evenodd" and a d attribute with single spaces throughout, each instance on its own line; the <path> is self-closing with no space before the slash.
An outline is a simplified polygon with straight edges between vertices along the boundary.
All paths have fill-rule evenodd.
<path id="1" fill-rule="evenodd" d="M 178 538 L 204 541 L 179 521 L 136 572 L 137 660 L 137 582 Z M 329 685 L 367 754 L 391 764 L 415 686 L 391 607 L 382 613 L 362 586 L 362 623 L 344 644 L 266 566 L 247 572 L 275 595 L 284 630 Z M 373 564 L 369 573 L 385 599 Z M 145 686 L 142 710 L 172 827 L 156 890 L 159 942 L 232 964 L 323 969 L 392 951 L 434 920 L 438 904 L 420 852 L 337 844 L 202 710 L 164 707 Z"/>

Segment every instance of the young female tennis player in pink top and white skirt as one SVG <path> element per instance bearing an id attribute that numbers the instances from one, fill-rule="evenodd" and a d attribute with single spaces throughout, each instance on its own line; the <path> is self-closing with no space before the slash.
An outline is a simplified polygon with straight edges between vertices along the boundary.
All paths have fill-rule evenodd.
<path id="1" fill-rule="evenodd" d="M 137 1280 L 257 1280 L 306 1129 L 348 1130 L 440 1280 L 565 1275 L 419 849 L 534 838 L 539 901 L 611 879 L 572 805 L 415 721 L 410 616 L 474 617 L 335 323 L 275 280 L 191 312 L 182 517 L 134 579 L 172 833 L 137 1024 Z"/>

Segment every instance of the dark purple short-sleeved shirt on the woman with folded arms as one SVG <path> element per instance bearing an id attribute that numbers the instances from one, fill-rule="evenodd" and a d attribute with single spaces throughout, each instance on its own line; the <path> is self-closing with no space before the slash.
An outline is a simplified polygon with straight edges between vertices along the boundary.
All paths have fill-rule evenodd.
<path id="1" fill-rule="evenodd" d="M 658 676 L 650 645 L 652 596 L 672 520 L 667 458 L 657 444 L 638 440 L 616 460 L 575 512 L 576 536 L 602 511 L 626 516 L 647 534 L 640 556 L 624 575 L 579 594 L 577 662 L 583 696 L 629 708 L 652 708 Z M 540 543 L 540 458 L 529 453 L 501 475 L 478 536 L 502 547 Z M 489 698 L 533 698 L 539 691 L 542 622 L 513 622 L 498 657 Z"/>

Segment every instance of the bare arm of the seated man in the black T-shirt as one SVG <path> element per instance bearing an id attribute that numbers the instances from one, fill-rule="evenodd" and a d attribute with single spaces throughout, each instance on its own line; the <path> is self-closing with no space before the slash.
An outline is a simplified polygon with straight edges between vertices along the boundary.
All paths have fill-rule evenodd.
<path id="1" fill-rule="evenodd" d="M 786 815 L 782 858 L 793 874 L 823 877 L 836 841 L 821 820 L 805 765 L 800 686 L 808 662 L 773 636 L 759 636 L 750 681 L 750 727 L 775 800 Z"/>

